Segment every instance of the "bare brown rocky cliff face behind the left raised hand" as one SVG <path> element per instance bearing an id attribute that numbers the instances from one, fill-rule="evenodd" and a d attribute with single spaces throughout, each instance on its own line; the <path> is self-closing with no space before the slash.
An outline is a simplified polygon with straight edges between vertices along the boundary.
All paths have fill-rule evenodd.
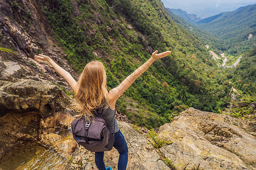
<path id="1" fill-rule="evenodd" d="M 38 3 L 32 0 L 0 2 L 0 46 L 14 49 L 17 52 L 15 55 L 1 52 L 0 67 L 3 68 L 6 65 L 10 67 L 10 63 L 3 65 L 2 62 L 6 61 L 19 63 L 19 66 L 15 65 L 10 68 L 15 71 L 19 70 L 19 74 L 1 73 L 0 79 L 2 80 L 10 76 L 20 78 L 26 75 L 60 83 L 62 78 L 51 69 L 48 63 L 39 63 L 34 60 L 35 54 L 38 53 L 51 56 L 59 65 L 65 66 L 69 73 L 76 76 L 72 67 L 63 58 L 64 50 L 55 45 L 56 41 L 51 35 L 51 27 Z M 62 84 L 67 85 L 65 82 Z"/>

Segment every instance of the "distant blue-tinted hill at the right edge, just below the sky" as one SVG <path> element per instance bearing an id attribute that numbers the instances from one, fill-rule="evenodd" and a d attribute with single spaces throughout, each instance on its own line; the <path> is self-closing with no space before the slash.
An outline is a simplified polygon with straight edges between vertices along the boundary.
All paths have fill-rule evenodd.
<path id="1" fill-rule="evenodd" d="M 199 28 L 216 33 L 223 39 L 240 35 L 245 40 L 250 33 L 256 33 L 256 4 L 240 7 L 232 12 L 223 12 L 198 23 Z"/>

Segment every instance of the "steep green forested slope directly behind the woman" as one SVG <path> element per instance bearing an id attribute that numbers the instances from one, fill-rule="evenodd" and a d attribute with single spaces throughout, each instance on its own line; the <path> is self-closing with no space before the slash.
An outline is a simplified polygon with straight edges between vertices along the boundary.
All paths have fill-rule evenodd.
<path id="1" fill-rule="evenodd" d="M 62 48 L 65 59 L 78 74 L 91 59 L 102 61 L 109 88 L 117 86 L 150 58 L 154 50 L 171 50 L 170 56 L 156 61 L 118 101 L 119 110 L 134 124 L 156 127 L 188 107 L 212 112 L 226 107 L 230 84 L 225 73 L 216 66 L 204 42 L 177 25 L 161 1 L 16 0 L 1 3 L 9 9 L 1 10 L 5 18 L 3 25 L 9 28 L 7 32 L 18 29 L 13 27 L 15 24 L 25 32 L 17 31 L 16 41 L 27 40 L 26 36 L 36 40 L 27 42 L 28 45 L 33 43 L 30 53 L 26 53 L 28 58 L 40 53 L 40 49 L 44 54 L 52 54 L 45 50 L 46 42 L 42 42 L 38 38 L 41 35 L 36 35 L 34 30 L 41 26 L 42 32 L 51 30 L 48 33 L 52 37 L 44 39 L 52 43 L 47 48 Z M 36 7 L 36 13 L 28 8 L 28 3 Z M 41 18 L 42 23 L 36 23 L 35 18 Z M 10 44 L 12 41 L 3 31 L 3 25 L 1 42 L 6 44 L 9 40 Z M 14 45 L 6 47 L 17 50 Z M 65 65 L 61 66 L 65 69 Z M 40 77 L 45 78 L 45 75 Z"/>

